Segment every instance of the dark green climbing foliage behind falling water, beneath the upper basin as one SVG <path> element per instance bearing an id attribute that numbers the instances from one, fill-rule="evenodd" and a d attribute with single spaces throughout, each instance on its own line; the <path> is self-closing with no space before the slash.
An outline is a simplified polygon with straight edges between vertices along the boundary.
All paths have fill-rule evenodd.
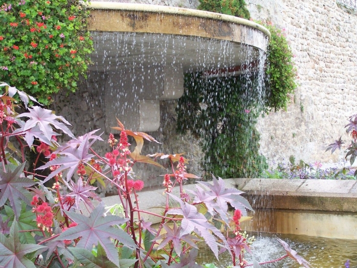
<path id="1" fill-rule="evenodd" d="M 247 79 L 253 81 L 251 87 Z M 254 81 L 253 74 L 215 79 L 185 76 L 185 92 L 177 108 L 178 131 L 190 130 L 201 138 L 207 174 L 258 177 L 266 169 L 255 129 L 259 92 Z"/>

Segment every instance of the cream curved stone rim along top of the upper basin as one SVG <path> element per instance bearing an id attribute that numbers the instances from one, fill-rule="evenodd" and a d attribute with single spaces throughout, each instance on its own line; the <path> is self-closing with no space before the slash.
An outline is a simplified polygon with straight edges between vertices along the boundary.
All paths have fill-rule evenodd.
<path id="1" fill-rule="evenodd" d="M 241 24 L 250 26 L 263 32 L 270 39 L 271 35 L 269 30 L 255 22 L 248 21 L 235 16 L 214 13 L 209 11 L 189 9 L 182 7 L 164 6 L 164 5 L 150 5 L 150 4 L 136 4 L 136 3 L 118 3 L 118 2 L 96 2 L 91 1 L 85 3 L 91 9 L 106 9 L 106 10 L 126 10 L 126 11 L 139 11 L 139 12 L 153 12 L 153 13 L 166 13 L 171 15 L 181 15 L 188 17 L 200 17 L 212 20 L 218 20 L 233 24 Z"/>

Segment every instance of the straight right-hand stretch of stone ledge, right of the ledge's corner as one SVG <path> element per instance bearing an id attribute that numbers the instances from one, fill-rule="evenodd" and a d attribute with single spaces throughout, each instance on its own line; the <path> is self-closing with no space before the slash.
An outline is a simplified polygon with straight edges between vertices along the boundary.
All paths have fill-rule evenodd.
<path id="1" fill-rule="evenodd" d="M 253 208 L 357 212 L 355 180 L 236 181 Z"/>

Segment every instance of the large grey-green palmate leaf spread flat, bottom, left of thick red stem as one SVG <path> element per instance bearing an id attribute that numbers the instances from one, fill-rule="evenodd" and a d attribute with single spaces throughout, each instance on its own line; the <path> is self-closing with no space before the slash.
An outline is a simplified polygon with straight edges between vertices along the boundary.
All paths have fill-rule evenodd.
<path id="1" fill-rule="evenodd" d="M 66 214 L 78 225 L 68 228 L 55 240 L 73 240 L 81 237 L 77 247 L 88 250 L 91 250 L 93 245 L 101 244 L 108 259 L 117 266 L 119 266 L 118 251 L 111 238 L 117 239 L 126 246 L 136 247 L 133 239 L 126 232 L 121 228 L 112 227 L 126 222 L 126 219 L 114 215 L 104 217 L 103 203 L 100 203 L 89 217 L 74 212 L 67 212 Z"/>

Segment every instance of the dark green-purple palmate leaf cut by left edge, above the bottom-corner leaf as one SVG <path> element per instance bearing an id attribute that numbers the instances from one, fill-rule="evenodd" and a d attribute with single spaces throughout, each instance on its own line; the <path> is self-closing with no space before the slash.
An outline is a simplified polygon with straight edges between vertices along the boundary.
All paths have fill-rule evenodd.
<path id="1" fill-rule="evenodd" d="M 0 206 L 3 206 L 7 199 L 9 199 L 16 219 L 19 219 L 21 214 L 23 200 L 30 205 L 32 195 L 24 188 L 37 184 L 33 180 L 25 177 L 20 177 L 25 162 L 18 166 L 14 171 L 10 166 L 5 167 L 5 171 L 0 170 Z"/>

